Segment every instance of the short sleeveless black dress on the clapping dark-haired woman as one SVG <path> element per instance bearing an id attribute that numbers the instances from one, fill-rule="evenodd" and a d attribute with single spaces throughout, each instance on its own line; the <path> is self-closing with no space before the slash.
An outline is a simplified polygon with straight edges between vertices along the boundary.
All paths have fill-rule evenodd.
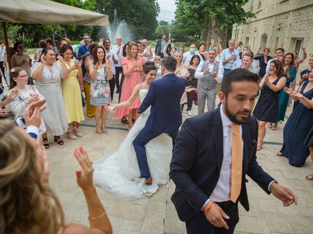
<path id="1" fill-rule="evenodd" d="M 276 85 L 281 77 L 275 79 L 272 84 Z M 264 122 L 275 123 L 278 115 L 278 96 L 282 91 L 271 90 L 266 83 L 261 89 L 261 95 L 253 110 L 253 116 Z"/>

